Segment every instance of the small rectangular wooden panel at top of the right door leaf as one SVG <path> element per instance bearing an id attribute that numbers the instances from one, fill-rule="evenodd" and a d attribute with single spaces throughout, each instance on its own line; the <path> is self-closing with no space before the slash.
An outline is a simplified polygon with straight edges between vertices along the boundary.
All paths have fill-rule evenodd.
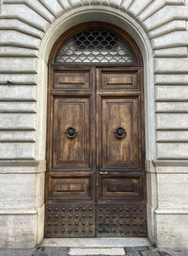
<path id="1" fill-rule="evenodd" d="M 100 70 L 101 90 L 119 91 L 126 89 L 139 89 L 140 70 Z"/>

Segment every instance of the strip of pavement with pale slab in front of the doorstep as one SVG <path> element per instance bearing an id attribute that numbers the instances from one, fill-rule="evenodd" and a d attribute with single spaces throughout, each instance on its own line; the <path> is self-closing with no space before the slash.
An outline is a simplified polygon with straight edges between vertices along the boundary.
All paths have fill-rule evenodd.
<path id="1" fill-rule="evenodd" d="M 0 250 L 0 256 L 188 256 L 188 250 L 156 247 L 36 247 L 27 250 Z"/>

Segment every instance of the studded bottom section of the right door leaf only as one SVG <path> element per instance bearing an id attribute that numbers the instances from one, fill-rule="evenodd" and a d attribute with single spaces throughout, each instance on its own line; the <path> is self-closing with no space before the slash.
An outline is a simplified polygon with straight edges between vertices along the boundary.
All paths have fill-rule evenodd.
<path id="1" fill-rule="evenodd" d="M 144 205 L 98 205 L 96 214 L 97 236 L 147 236 Z"/>

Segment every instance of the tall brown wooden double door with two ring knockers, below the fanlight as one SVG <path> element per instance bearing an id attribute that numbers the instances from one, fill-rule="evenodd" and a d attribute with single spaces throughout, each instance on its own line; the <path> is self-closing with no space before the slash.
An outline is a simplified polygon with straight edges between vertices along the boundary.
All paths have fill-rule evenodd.
<path id="1" fill-rule="evenodd" d="M 50 77 L 45 236 L 146 236 L 142 67 Z"/>

